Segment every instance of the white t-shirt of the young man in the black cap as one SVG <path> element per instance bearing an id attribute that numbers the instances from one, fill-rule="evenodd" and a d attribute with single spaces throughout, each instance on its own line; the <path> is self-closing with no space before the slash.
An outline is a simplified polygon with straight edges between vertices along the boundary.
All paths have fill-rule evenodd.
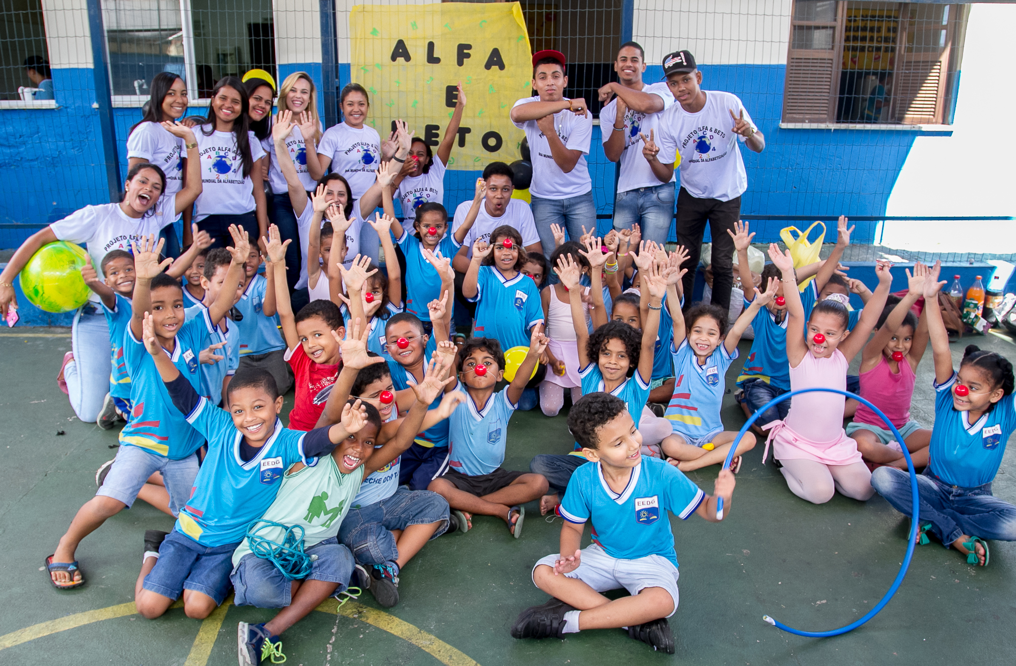
<path id="1" fill-rule="evenodd" d="M 671 163 L 681 154 L 681 187 L 696 199 L 729 201 L 748 189 L 748 175 L 735 134 L 734 118 L 745 112 L 745 121 L 758 131 L 748 110 L 736 94 L 705 90 L 705 106 L 689 114 L 676 104 L 659 115 L 656 159 Z"/>

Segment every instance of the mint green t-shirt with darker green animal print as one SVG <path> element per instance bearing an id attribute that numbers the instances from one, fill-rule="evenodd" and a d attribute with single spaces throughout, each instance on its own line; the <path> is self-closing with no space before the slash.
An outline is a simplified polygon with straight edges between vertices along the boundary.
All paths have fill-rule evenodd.
<path id="1" fill-rule="evenodd" d="M 338 534 L 338 527 L 360 491 L 363 479 L 363 465 L 342 474 L 335 459 L 324 456 L 313 467 L 287 472 L 275 502 L 261 518 L 287 527 L 301 526 L 304 528 L 304 547 L 309 548 Z M 278 543 L 284 531 L 280 527 L 264 527 L 257 534 Z M 239 564 L 249 552 L 250 543 L 245 537 L 233 552 L 233 565 Z"/>

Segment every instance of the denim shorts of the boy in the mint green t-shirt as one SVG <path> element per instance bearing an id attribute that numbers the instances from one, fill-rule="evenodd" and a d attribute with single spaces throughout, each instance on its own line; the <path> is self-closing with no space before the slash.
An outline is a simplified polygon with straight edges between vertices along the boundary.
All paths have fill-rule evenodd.
<path id="1" fill-rule="evenodd" d="M 315 543 L 304 550 L 308 555 L 317 555 L 311 562 L 311 573 L 305 581 L 337 583 L 335 594 L 345 590 L 353 576 L 356 562 L 350 549 L 335 537 Z M 271 560 L 258 557 L 253 552 L 244 555 L 230 575 L 237 606 L 257 606 L 258 608 L 285 608 L 293 603 L 293 581 L 282 576 Z"/>

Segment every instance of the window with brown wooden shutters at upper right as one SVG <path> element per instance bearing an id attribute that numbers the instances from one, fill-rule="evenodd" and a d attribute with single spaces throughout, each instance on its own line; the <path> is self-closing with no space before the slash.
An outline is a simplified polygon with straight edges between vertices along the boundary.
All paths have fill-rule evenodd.
<path id="1" fill-rule="evenodd" d="M 795 0 L 783 122 L 950 123 L 967 11 Z"/>

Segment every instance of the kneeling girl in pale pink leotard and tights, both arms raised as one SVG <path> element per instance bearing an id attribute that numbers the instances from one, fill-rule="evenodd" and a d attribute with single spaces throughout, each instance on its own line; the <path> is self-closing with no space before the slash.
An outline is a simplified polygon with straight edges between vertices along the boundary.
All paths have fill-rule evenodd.
<path id="1" fill-rule="evenodd" d="M 892 282 L 891 265 L 876 263 L 879 286 L 847 337 L 846 296 L 834 293 L 819 301 L 806 321 L 790 251 L 783 254 L 772 244 L 769 257 L 782 274 L 788 318 L 786 358 L 790 364 L 790 390 L 845 391 L 846 368 L 868 342 L 885 308 Z M 790 399 L 786 418 L 768 426 L 772 432 L 766 441 L 766 453 L 771 444 L 773 458 L 781 465 L 779 471 L 790 491 L 813 504 L 829 502 L 836 490 L 862 502 L 875 494 L 872 473 L 861 459 L 858 444 L 843 431 L 843 396 L 839 394 L 802 393 Z M 766 453 L 762 454 L 762 462 Z"/>

